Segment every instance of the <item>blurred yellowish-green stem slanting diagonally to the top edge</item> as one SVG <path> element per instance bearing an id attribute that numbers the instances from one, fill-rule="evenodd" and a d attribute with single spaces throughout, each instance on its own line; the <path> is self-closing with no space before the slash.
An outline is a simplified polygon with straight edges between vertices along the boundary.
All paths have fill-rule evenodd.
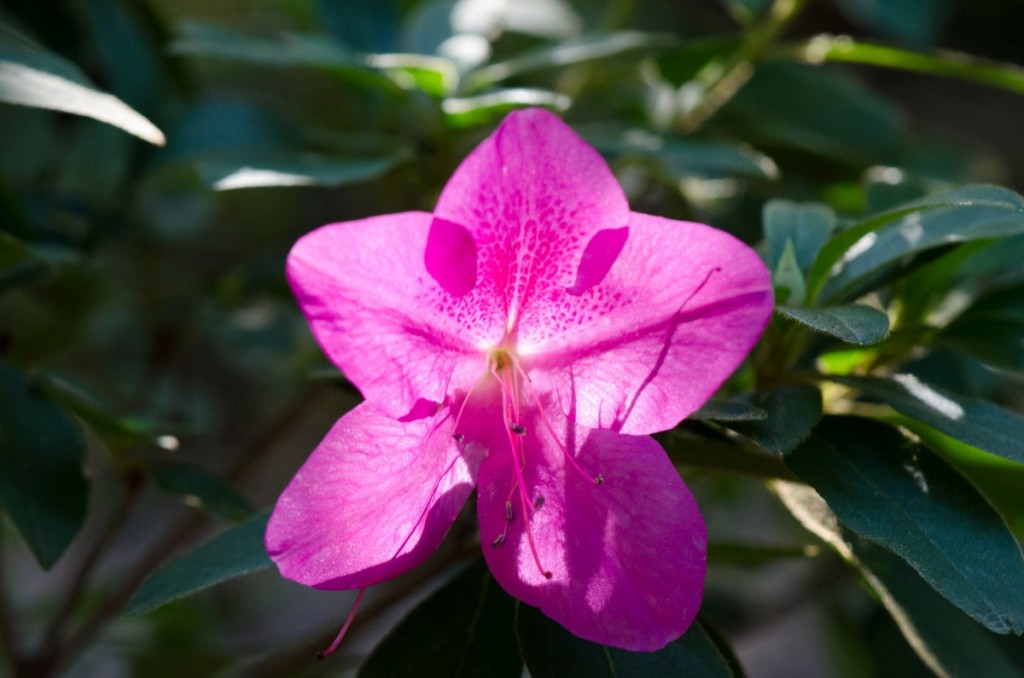
<path id="1" fill-rule="evenodd" d="M 705 83 L 705 95 L 700 102 L 679 121 L 682 132 L 689 134 L 696 131 L 746 84 L 754 76 L 755 61 L 772 46 L 806 2 L 807 0 L 775 0 L 772 3 L 765 18 L 746 33 L 732 58 Z"/>

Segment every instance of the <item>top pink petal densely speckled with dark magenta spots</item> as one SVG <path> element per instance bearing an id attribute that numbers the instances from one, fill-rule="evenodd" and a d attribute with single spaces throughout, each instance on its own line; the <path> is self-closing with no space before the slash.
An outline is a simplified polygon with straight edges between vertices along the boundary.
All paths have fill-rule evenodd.
<path id="1" fill-rule="evenodd" d="M 584 254 L 601 231 L 627 225 L 629 205 L 600 155 L 556 116 L 534 109 L 510 114 L 466 158 L 434 214 L 476 243 L 479 292 L 465 307 L 497 304 L 514 332 L 527 309 L 547 308 L 536 300 L 603 277 L 607 257 Z"/>

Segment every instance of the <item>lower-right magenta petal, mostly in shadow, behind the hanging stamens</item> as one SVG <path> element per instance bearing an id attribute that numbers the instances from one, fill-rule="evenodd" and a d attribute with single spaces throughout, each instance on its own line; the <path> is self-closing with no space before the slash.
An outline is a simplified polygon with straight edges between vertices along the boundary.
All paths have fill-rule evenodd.
<path id="1" fill-rule="evenodd" d="M 703 591 L 707 532 L 686 485 L 649 437 L 570 428 L 567 444 L 578 463 L 587 476 L 603 476 L 595 484 L 566 462 L 536 412 L 526 419 L 527 506 L 519 500 L 512 456 L 501 450 L 503 439 L 509 449 L 504 431 L 490 433 L 480 467 L 477 510 L 495 578 L 582 638 L 638 651 L 664 647 L 690 626 Z M 529 527 L 550 580 L 524 529 L 524 513 L 538 504 Z M 506 529 L 504 542 L 493 546 Z"/>

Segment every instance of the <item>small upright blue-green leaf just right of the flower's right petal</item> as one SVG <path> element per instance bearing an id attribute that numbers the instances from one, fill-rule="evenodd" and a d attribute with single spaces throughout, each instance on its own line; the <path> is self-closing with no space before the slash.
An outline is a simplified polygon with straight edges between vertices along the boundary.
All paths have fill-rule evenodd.
<path id="1" fill-rule="evenodd" d="M 814 257 L 836 229 L 836 213 L 820 203 L 770 200 L 764 207 L 762 221 L 769 268 L 778 264 L 786 243 L 792 242 L 800 269 L 810 270 Z"/>

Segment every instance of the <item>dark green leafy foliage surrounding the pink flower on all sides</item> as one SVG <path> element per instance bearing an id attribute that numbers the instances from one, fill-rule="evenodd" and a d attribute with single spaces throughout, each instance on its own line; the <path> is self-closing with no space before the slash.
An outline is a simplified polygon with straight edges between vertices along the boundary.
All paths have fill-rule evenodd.
<path id="1" fill-rule="evenodd" d="M 5 0 L 0 662 L 1024 675 L 1022 25 L 1004 0 Z M 634 209 L 774 272 L 749 365 L 660 437 L 709 523 L 701 622 L 595 654 L 504 597 L 469 515 L 317 665 L 351 595 L 268 569 L 263 511 L 359 396 L 286 254 L 431 209 L 525 105 Z"/>

